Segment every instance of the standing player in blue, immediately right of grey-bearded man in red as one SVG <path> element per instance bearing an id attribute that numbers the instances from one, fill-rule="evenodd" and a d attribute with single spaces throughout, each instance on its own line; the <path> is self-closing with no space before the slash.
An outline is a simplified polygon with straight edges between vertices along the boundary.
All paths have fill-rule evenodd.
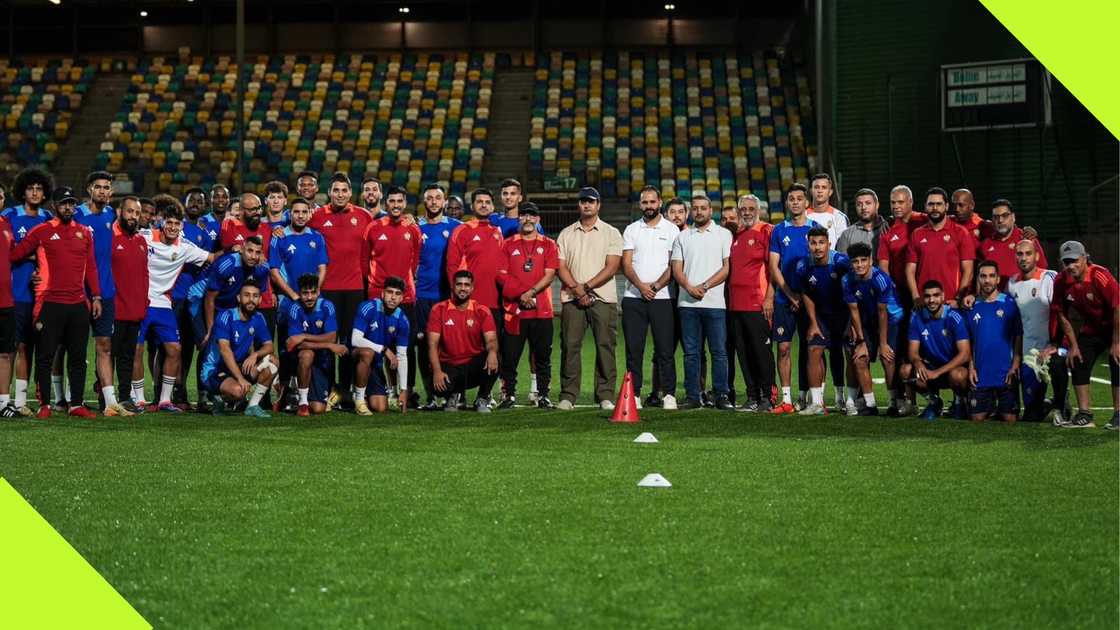
<path id="1" fill-rule="evenodd" d="M 774 407 L 774 414 L 792 414 L 793 400 L 790 395 L 793 380 L 790 363 L 790 342 L 794 331 L 804 332 L 808 322 L 801 308 L 801 296 L 791 287 L 797 260 L 809 256 L 809 231 L 816 225 L 809 220 L 805 209 L 809 206 L 809 188 L 804 184 L 794 183 L 785 194 L 786 210 L 790 219 L 774 226 L 769 242 L 769 274 L 774 286 L 774 323 L 772 340 L 777 342 L 777 372 L 782 381 L 782 402 Z M 797 351 L 797 387 L 801 398 L 805 398 L 809 388 L 809 374 L 805 371 L 809 358 L 809 345 L 802 334 Z"/>

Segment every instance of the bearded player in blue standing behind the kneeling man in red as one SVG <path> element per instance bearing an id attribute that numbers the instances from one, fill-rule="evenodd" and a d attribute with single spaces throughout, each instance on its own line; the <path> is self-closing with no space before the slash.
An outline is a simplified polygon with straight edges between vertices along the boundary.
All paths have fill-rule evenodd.
<path id="1" fill-rule="evenodd" d="M 463 223 L 444 214 L 447 207 L 446 191 L 439 184 L 429 184 L 423 191 L 424 216 L 420 217 L 420 265 L 417 267 L 417 321 L 411 326 L 413 343 L 418 348 L 427 346 L 423 332 L 428 328 L 428 313 L 447 299 L 451 288 L 447 282 L 447 244 L 451 232 Z M 431 361 L 427 352 L 417 353 L 420 369 L 420 380 L 424 387 L 423 410 L 435 410 L 441 407 L 436 402 L 436 389 L 431 383 Z"/>

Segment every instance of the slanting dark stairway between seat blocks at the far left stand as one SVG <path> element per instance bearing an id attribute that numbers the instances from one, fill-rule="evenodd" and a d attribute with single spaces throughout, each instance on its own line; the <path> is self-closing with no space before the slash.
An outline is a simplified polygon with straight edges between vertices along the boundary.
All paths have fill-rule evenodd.
<path id="1" fill-rule="evenodd" d="M 58 184 L 84 191 L 85 176 L 97 157 L 105 130 L 116 115 L 128 89 L 128 74 L 99 74 L 93 80 L 82 115 L 75 117 L 69 139 L 60 147 L 55 167 Z M 121 189 L 120 184 L 118 189 Z M 81 195 L 84 197 L 85 193 Z"/>

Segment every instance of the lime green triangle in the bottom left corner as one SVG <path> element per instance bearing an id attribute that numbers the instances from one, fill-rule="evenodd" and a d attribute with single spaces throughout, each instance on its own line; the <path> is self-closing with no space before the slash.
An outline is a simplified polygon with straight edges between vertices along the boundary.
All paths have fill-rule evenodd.
<path id="1" fill-rule="evenodd" d="M 151 628 L 2 478 L 0 540 L 0 627 Z"/>

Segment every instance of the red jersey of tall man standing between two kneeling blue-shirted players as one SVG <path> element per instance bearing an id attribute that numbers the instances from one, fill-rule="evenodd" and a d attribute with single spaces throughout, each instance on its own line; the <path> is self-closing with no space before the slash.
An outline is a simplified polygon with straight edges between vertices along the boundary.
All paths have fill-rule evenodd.
<path id="1" fill-rule="evenodd" d="M 308 228 L 323 234 L 327 243 L 327 256 L 334 265 L 327 266 L 323 279 L 323 290 L 362 290 L 365 275 L 370 269 L 370 249 L 365 243 L 365 231 L 370 228 L 370 213 L 348 204 L 336 212 L 325 205 L 315 211 Z"/>

